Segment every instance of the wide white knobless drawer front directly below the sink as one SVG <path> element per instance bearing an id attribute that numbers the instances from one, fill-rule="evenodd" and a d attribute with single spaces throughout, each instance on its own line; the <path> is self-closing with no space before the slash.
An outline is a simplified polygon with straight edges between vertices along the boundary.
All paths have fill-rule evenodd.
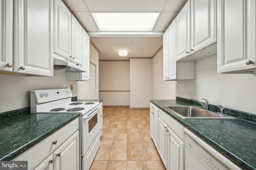
<path id="1" fill-rule="evenodd" d="M 183 130 L 184 126 L 178 123 L 175 119 L 173 119 L 170 115 L 159 109 L 159 117 L 167 124 L 176 135 L 183 140 Z"/>

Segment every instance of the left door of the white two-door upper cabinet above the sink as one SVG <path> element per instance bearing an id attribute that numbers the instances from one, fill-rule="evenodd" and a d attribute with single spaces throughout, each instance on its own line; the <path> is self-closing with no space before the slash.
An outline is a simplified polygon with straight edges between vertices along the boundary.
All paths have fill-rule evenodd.
<path id="1" fill-rule="evenodd" d="M 188 1 L 176 17 L 176 59 L 190 54 L 190 14 Z"/>

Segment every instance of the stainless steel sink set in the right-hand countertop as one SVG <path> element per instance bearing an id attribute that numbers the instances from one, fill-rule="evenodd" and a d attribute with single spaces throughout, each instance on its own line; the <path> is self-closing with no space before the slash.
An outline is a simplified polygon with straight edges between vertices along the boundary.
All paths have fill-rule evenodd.
<path id="1" fill-rule="evenodd" d="M 164 106 L 172 113 L 183 119 L 235 119 L 236 117 L 223 115 L 220 113 L 208 111 L 197 106 Z"/>

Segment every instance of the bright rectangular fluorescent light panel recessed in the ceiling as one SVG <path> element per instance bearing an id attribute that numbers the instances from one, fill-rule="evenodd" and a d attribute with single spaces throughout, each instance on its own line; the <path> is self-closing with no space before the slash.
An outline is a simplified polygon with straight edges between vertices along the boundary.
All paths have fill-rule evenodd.
<path id="1" fill-rule="evenodd" d="M 92 13 L 100 31 L 152 31 L 160 13 Z"/>

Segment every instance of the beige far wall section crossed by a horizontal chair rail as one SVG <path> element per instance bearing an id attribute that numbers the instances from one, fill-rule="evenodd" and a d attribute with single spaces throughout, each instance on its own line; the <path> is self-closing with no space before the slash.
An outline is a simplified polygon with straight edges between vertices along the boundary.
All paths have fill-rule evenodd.
<path id="1" fill-rule="evenodd" d="M 100 61 L 99 96 L 104 106 L 130 106 L 130 62 Z"/>

